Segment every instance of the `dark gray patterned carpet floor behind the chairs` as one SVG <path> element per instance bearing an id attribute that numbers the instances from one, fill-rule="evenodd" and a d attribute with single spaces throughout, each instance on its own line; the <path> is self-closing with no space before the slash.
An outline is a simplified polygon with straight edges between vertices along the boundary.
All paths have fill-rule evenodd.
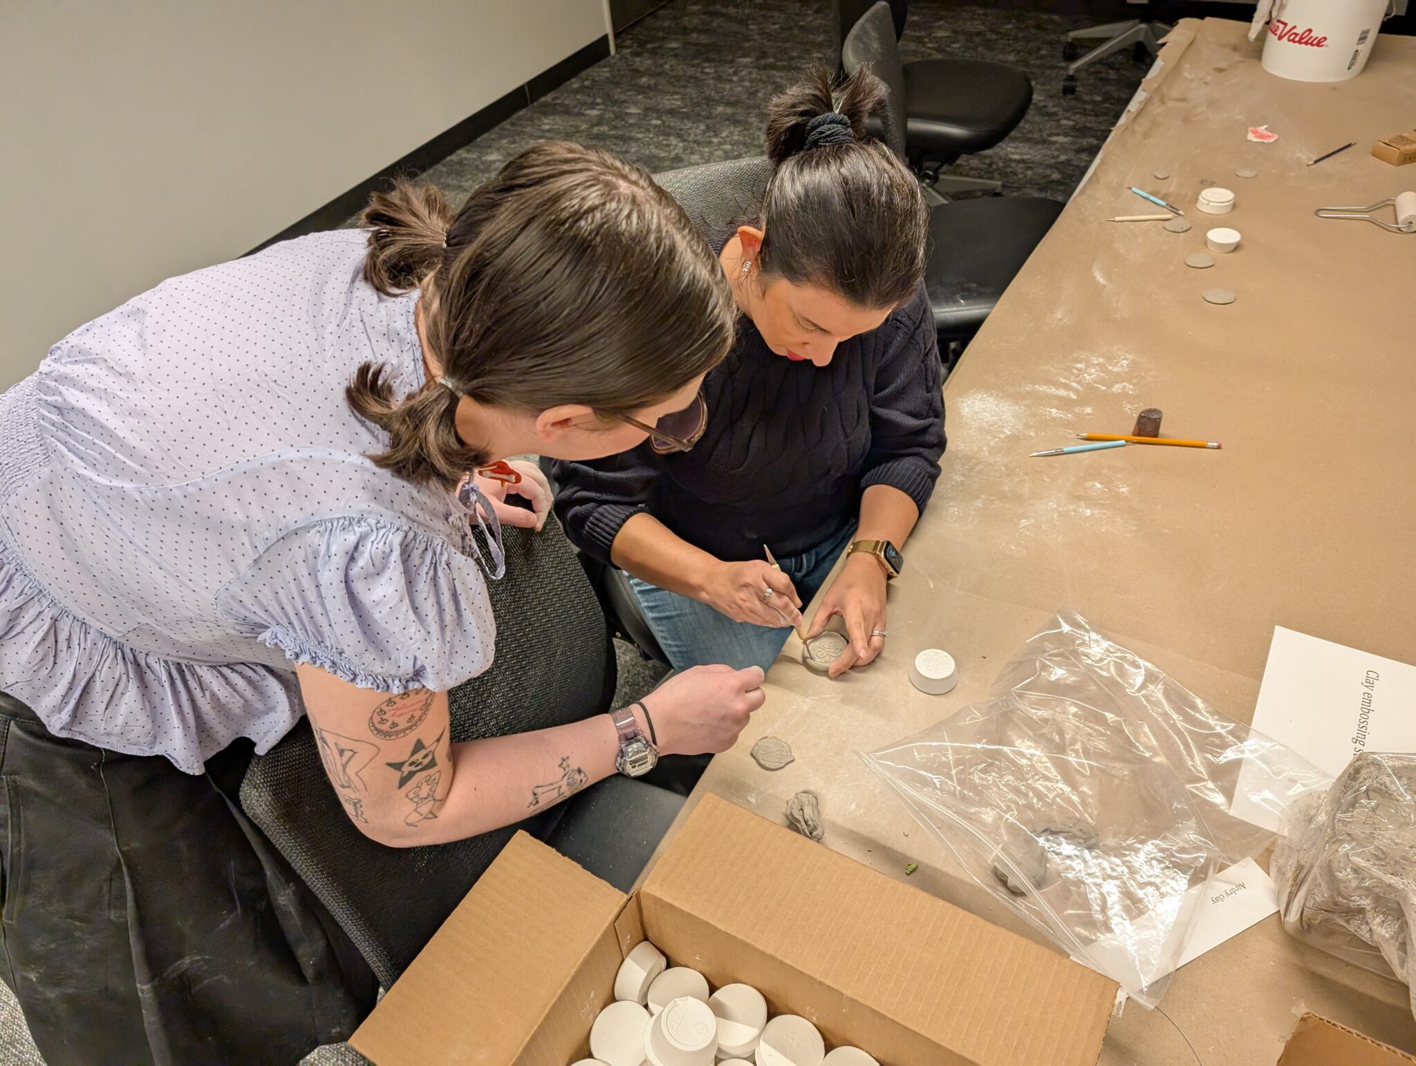
<path id="1" fill-rule="evenodd" d="M 997 178 L 1005 191 L 1066 200 L 1121 113 L 1146 67 L 1113 55 L 1062 96 L 1061 41 L 1087 18 L 995 4 L 910 4 L 906 59 L 959 55 L 1025 69 L 1034 102 L 998 147 L 953 173 Z M 1092 20 L 1095 21 L 1095 20 Z M 830 52 L 821 0 L 673 0 L 619 38 L 619 51 L 426 171 L 456 202 L 531 140 L 565 139 L 617 151 L 651 173 L 756 154 L 765 105 Z M 616 647 L 616 706 L 653 688 L 661 670 Z M 306 1063 L 362 1063 L 344 1045 Z M 0 984 L 0 1066 L 42 1066 L 8 988 Z"/>

